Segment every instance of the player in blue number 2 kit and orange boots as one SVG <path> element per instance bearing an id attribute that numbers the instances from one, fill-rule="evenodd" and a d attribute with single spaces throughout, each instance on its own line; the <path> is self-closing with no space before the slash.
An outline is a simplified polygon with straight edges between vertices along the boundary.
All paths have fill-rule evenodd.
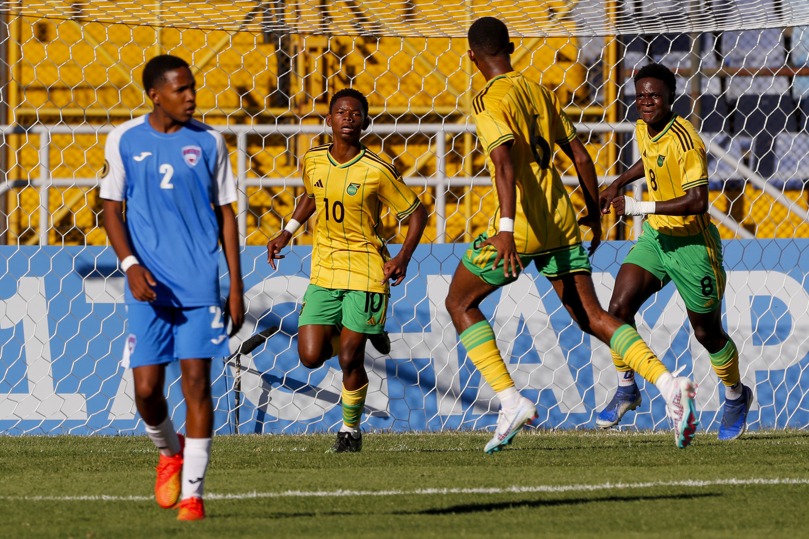
<path id="1" fill-rule="evenodd" d="M 133 369 L 146 433 L 160 451 L 155 497 L 162 507 L 180 500 L 179 520 L 200 520 L 214 425 L 210 358 L 229 354 L 227 318 L 231 335 L 244 322 L 231 208 L 236 186 L 222 135 L 192 119 L 196 89 L 188 64 L 169 55 L 152 58 L 143 88 L 154 110 L 107 137 L 104 227 L 126 274 L 124 363 Z M 224 310 L 220 241 L 231 276 Z M 177 360 L 185 437 L 175 431 L 163 395 L 166 364 Z"/>

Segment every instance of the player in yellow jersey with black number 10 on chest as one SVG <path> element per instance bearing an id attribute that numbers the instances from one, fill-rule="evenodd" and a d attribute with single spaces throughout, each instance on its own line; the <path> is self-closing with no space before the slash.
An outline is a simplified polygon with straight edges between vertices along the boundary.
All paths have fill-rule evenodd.
<path id="1" fill-rule="evenodd" d="M 353 89 L 338 91 L 328 110 L 332 142 L 304 154 L 306 196 L 286 229 L 267 243 L 267 260 L 274 269 L 275 260 L 284 258 L 278 253 L 300 224 L 316 213 L 311 284 L 298 321 L 298 352 L 307 368 L 319 368 L 339 356 L 343 423 L 327 453 L 356 453 L 362 448 L 359 423 L 368 391 L 366 341 L 383 335 L 388 280 L 394 280 L 394 286 L 404 280 L 424 233 L 427 211 L 404 185 L 396 166 L 360 142 L 370 123 L 365 95 Z M 410 217 L 404 245 L 393 258 L 381 235 L 383 205 L 399 219 Z"/>

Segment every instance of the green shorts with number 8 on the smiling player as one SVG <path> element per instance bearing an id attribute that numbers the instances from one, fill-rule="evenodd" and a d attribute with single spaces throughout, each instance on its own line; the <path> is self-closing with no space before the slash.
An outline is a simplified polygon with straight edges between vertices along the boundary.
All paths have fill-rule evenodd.
<path id="1" fill-rule="evenodd" d="M 688 310 L 709 313 L 722 305 L 726 274 L 722 241 L 714 223 L 700 234 L 669 236 L 646 221 L 624 263 L 642 267 L 663 286 L 673 280 Z"/>

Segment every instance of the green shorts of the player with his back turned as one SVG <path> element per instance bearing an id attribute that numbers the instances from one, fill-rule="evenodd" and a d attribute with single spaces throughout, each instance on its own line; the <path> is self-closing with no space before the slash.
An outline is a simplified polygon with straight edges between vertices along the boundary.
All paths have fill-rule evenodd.
<path id="1" fill-rule="evenodd" d="M 464 266 L 485 283 L 492 286 L 513 283 L 517 278 L 503 275 L 502 260 L 498 263 L 498 267 L 492 269 L 492 264 L 498 256 L 498 251 L 490 245 L 481 248 L 481 243 L 487 239 L 489 239 L 489 236 L 484 233 L 472 242 L 464 255 Z M 519 255 L 519 259 L 523 263 L 523 267 L 526 267 L 533 260 L 536 264 L 536 269 L 546 277 L 559 277 L 568 273 L 593 272 L 587 250 L 581 243 L 536 255 Z M 519 272 L 519 267 L 517 270 Z"/>

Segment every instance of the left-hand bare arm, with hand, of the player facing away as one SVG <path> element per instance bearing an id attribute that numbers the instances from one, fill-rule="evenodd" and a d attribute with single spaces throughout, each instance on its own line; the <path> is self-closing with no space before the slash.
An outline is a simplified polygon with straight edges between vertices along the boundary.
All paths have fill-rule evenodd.
<path id="1" fill-rule="evenodd" d="M 514 173 L 514 162 L 511 161 L 509 144 L 499 145 L 489 152 L 489 158 L 494 163 L 494 187 L 498 190 L 498 200 L 500 200 L 500 217 L 514 221 L 517 212 L 517 181 Z M 517 267 L 521 270 L 523 261 L 517 254 L 517 245 L 514 242 L 514 232 L 500 230 L 491 238 L 481 243 L 482 246 L 490 245 L 498 250 L 498 255 L 494 258 L 492 269 L 498 267 L 500 260 L 503 260 L 503 275 L 506 277 L 518 276 Z"/>

